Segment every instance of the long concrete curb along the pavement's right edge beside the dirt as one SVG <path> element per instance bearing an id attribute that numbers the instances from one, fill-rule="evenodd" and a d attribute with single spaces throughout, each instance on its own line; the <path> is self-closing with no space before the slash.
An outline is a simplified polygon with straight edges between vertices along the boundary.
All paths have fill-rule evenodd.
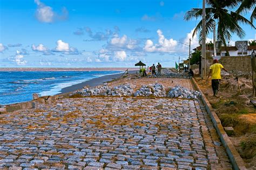
<path id="1" fill-rule="evenodd" d="M 227 155 L 230 158 L 233 168 L 234 169 L 247 169 L 245 167 L 244 160 L 242 160 L 239 153 L 235 149 L 232 141 L 230 140 L 230 138 L 228 138 L 226 132 L 224 131 L 224 128 L 221 125 L 221 121 L 220 121 L 218 115 L 213 110 L 211 104 L 205 97 L 204 93 L 201 91 L 199 85 L 197 84 L 196 80 L 194 80 L 194 78 L 192 78 L 192 84 L 194 85 L 195 89 L 201 93 L 201 99 L 203 100 L 206 111 L 211 117 L 213 126 L 215 127 L 215 129 L 220 137 L 220 141 L 222 142 L 223 146 L 226 149 Z"/>

